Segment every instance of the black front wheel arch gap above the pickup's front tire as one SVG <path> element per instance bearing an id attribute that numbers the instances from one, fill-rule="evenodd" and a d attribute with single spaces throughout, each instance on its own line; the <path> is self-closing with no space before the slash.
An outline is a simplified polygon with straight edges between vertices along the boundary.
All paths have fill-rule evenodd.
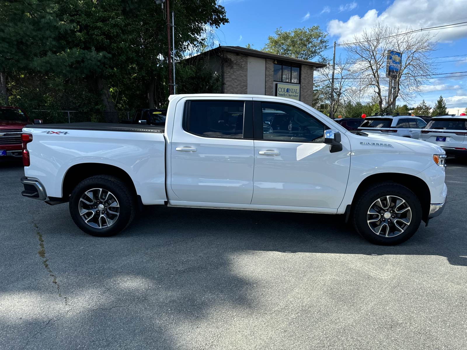
<path id="1" fill-rule="evenodd" d="M 428 214 L 430 213 L 430 188 L 421 178 L 415 175 L 401 174 L 401 173 L 381 173 L 373 174 L 366 177 L 358 186 L 355 191 L 352 205 L 360 192 L 368 186 L 374 185 L 378 182 L 394 182 L 403 185 L 410 189 L 415 196 L 417 196 L 420 204 L 422 205 L 422 220 L 426 223 L 428 221 Z"/>

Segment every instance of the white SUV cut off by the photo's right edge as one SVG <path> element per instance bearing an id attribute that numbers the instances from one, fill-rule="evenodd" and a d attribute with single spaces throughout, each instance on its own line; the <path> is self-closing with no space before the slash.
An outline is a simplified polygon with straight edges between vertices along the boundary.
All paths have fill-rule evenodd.
<path id="1" fill-rule="evenodd" d="M 467 116 L 433 117 L 420 133 L 419 140 L 431 142 L 446 155 L 467 156 Z"/>

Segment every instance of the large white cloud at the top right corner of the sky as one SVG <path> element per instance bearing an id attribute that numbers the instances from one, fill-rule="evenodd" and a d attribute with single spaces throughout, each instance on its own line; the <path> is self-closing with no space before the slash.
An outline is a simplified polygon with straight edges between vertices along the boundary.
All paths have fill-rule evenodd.
<path id="1" fill-rule="evenodd" d="M 349 4 L 347 4 L 349 5 Z M 346 5 L 346 6 L 347 6 Z M 352 40 L 354 35 L 360 35 L 364 28 L 371 28 L 377 22 L 389 27 L 399 27 L 402 30 L 411 27 L 427 28 L 437 25 L 461 22 L 459 17 L 467 13 L 466 0 L 395 0 L 378 16 L 375 9 L 369 10 L 363 17 L 351 16 L 347 22 L 332 20 L 327 24 L 331 35 L 339 36 L 339 41 Z M 436 34 L 435 31 L 430 31 Z M 441 29 L 437 40 L 450 42 L 467 36 L 467 26 Z"/>

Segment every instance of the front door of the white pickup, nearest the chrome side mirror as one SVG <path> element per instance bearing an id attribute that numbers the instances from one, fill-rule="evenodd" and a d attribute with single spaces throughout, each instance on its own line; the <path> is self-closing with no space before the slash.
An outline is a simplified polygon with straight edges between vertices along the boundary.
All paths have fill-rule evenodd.
<path id="1" fill-rule="evenodd" d="M 252 204 L 337 209 L 350 169 L 350 142 L 331 153 L 329 129 L 292 105 L 254 101 L 255 174 Z M 260 120 L 258 120 L 260 119 Z M 258 126 L 262 124 L 262 133 Z"/>

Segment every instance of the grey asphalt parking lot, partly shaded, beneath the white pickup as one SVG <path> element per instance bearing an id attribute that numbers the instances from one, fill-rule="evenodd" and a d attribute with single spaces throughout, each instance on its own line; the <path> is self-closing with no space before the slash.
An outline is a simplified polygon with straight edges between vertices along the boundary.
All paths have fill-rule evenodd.
<path id="1" fill-rule="evenodd" d="M 80 231 L 0 162 L 0 349 L 465 349 L 467 161 L 442 216 L 376 246 L 330 215 L 150 207 Z"/>

